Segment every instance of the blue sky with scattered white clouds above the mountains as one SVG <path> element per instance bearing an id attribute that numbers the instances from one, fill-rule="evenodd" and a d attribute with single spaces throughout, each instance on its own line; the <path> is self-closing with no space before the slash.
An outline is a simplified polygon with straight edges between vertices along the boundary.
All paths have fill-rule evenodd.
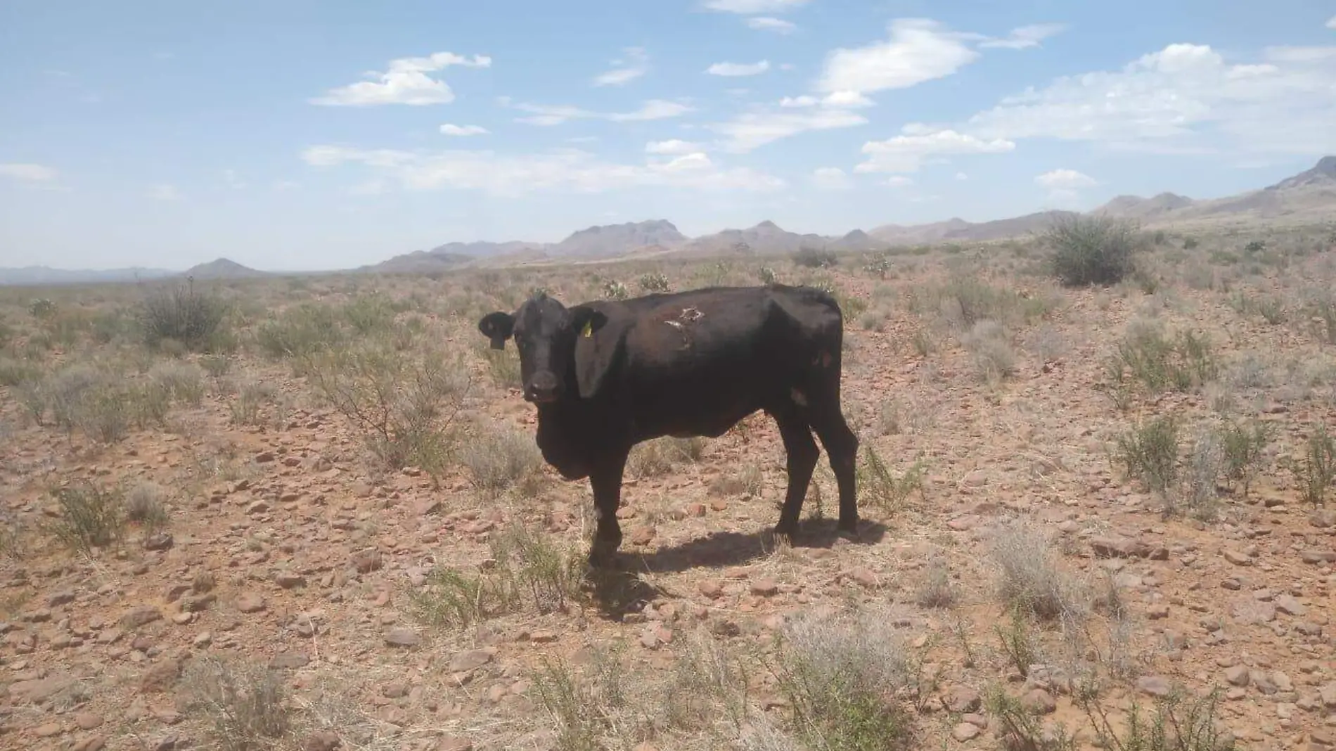
<path id="1" fill-rule="evenodd" d="M 1213 198 L 1336 154 L 1327 0 L 0 3 L 0 266 Z"/>

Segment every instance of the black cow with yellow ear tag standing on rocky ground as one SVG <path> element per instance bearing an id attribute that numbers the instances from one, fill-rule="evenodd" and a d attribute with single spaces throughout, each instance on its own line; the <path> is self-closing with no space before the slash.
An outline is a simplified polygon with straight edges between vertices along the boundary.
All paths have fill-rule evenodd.
<path id="1" fill-rule="evenodd" d="M 537 405 L 537 444 L 566 480 L 589 478 L 595 567 L 621 545 L 617 505 L 635 444 L 723 436 L 764 410 L 788 454 L 788 492 L 775 527 L 798 532 L 820 437 L 839 484 L 839 531 L 856 535 L 858 437 L 840 412 L 843 314 L 818 289 L 707 287 L 565 307 L 537 293 L 478 330 L 520 347 L 524 398 Z"/>

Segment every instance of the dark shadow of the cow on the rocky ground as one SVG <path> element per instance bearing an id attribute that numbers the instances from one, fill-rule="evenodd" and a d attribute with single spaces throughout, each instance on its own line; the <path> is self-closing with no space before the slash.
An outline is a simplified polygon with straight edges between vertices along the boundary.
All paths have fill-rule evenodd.
<path id="1" fill-rule="evenodd" d="M 858 537 L 846 539 L 852 545 L 875 545 L 886 537 L 887 527 L 863 520 Z M 806 520 L 788 543 L 794 548 L 831 548 L 844 539 L 834 520 Z M 603 617 L 621 620 L 639 612 L 652 600 L 675 593 L 645 581 L 641 573 L 675 573 L 700 568 L 741 565 L 775 552 L 783 540 L 770 527 L 751 533 L 713 532 L 680 545 L 667 545 L 651 553 L 617 553 L 613 568 L 587 569 L 585 592 Z"/>

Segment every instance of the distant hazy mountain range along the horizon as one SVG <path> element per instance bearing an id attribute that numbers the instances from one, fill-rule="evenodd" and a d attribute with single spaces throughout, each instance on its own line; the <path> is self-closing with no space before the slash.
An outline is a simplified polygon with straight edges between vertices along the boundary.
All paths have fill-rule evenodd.
<path id="1" fill-rule="evenodd" d="M 689 238 L 681 234 L 672 222 L 653 219 L 589 227 L 576 231 L 557 243 L 452 242 L 432 250 L 395 255 L 389 261 L 349 271 L 426 274 L 477 265 L 599 261 L 656 255 L 783 255 L 803 247 L 856 251 L 946 242 L 985 242 L 1025 237 L 1042 230 L 1055 216 L 1073 214 L 1071 211 L 1041 211 L 994 222 L 947 219 L 930 224 L 882 224 L 866 233 L 854 230 L 842 237 L 790 233 L 774 222 L 762 222 L 745 230 L 723 230 L 711 235 Z M 1090 214 L 1134 219 L 1148 229 L 1190 229 L 1194 226 L 1276 220 L 1332 220 L 1336 219 L 1336 156 L 1323 156 L 1309 170 L 1285 178 L 1273 186 L 1238 195 L 1209 200 L 1193 200 L 1172 192 L 1162 192 L 1152 198 L 1120 195 L 1094 208 Z M 277 275 L 277 273 L 259 271 L 219 258 L 186 271 L 138 267 L 69 271 L 45 266 L 0 269 L 0 285 L 132 282 L 170 277 L 243 279 L 266 275 Z"/>

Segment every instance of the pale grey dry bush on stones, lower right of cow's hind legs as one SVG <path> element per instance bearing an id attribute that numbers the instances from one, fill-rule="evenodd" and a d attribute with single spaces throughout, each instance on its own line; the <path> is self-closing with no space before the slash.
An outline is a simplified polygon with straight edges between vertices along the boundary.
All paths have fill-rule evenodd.
<path id="1" fill-rule="evenodd" d="M 1043 532 L 1025 518 L 1001 522 L 989 545 L 1003 604 L 1042 621 L 1078 623 L 1089 611 L 1085 587 L 1063 572 Z"/>

